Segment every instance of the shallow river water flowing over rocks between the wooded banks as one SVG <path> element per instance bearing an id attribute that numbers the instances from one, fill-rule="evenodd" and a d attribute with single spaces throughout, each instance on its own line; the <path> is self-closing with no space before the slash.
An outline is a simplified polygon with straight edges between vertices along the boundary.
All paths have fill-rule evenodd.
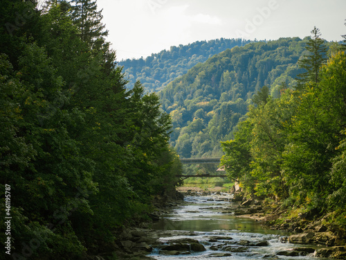
<path id="1" fill-rule="evenodd" d="M 305 256 L 286 257 L 277 252 L 293 250 L 302 245 L 282 243 L 288 233 L 262 227 L 250 218 L 239 218 L 230 212 L 230 195 L 188 196 L 185 203 L 154 223 L 160 241 L 167 245 L 176 239 L 195 239 L 205 248 L 203 252 L 183 252 L 179 255 L 163 255 L 163 245 L 154 248 L 150 257 L 154 259 L 321 259 L 313 253 Z M 266 241 L 266 246 L 255 246 Z M 264 242 L 264 243 L 266 243 Z M 231 248 L 227 250 L 227 248 Z M 311 248 L 309 246 L 309 248 Z M 227 250 L 227 251 L 226 251 Z M 187 254 L 185 254 L 187 253 Z M 231 255 L 230 255 L 231 254 Z"/>

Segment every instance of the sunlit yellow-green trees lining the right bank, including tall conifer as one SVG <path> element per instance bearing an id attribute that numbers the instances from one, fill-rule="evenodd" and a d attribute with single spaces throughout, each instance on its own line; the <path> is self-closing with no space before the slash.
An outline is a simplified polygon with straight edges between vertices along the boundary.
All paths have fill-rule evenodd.
<path id="1" fill-rule="evenodd" d="M 221 164 L 248 198 L 280 202 L 287 218 L 323 217 L 345 236 L 346 45 L 328 52 L 318 29 L 312 35 L 297 84 L 279 96 L 266 85 L 256 92 L 234 138 L 222 142 Z"/>

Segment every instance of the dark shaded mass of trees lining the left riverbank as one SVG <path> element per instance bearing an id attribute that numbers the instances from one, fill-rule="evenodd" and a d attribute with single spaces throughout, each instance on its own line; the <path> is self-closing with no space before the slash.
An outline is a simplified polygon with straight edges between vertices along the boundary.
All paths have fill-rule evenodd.
<path id="1" fill-rule="evenodd" d="M 170 116 L 126 89 L 95 1 L 35 3 L 1 1 L 0 239 L 11 259 L 111 252 L 118 227 L 175 191 Z"/>

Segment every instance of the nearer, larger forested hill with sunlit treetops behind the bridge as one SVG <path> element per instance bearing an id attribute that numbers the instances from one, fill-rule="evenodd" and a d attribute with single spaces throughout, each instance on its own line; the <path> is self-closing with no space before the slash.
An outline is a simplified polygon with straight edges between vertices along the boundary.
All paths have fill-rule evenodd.
<path id="1" fill-rule="evenodd" d="M 221 155 L 220 141 L 247 112 L 253 94 L 264 85 L 272 96 L 293 87 L 302 69 L 298 60 L 307 39 L 253 42 L 212 56 L 159 92 L 163 110 L 172 116 L 171 144 L 183 157 Z"/>

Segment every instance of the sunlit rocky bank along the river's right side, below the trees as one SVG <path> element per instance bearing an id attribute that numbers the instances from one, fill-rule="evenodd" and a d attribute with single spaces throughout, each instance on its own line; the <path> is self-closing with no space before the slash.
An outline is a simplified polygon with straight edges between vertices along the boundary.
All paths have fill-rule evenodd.
<path id="1" fill-rule="evenodd" d="M 307 214 L 285 219 L 286 211 L 280 210 L 280 206 L 274 211 L 268 211 L 256 200 L 244 200 L 239 194 L 235 194 L 233 202 L 235 215 L 242 218 L 253 218 L 271 227 L 292 232 L 286 241 L 300 245 L 318 245 L 320 248 L 307 248 L 307 252 L 314 251 L 316 257 L 329 257 L 333 259 L 346 259 L 346 232 L 345 230 L 325 224 L 325 218 L 312 218 Z M 284 219 L 284 220 L 283 220 Z M 277 224 L 277 220 L 282 220 Z M 300 249 L 301 250 L 301 249 Z M 292 250 L 289 256 L 299 256 L 301 252 Z"/>

